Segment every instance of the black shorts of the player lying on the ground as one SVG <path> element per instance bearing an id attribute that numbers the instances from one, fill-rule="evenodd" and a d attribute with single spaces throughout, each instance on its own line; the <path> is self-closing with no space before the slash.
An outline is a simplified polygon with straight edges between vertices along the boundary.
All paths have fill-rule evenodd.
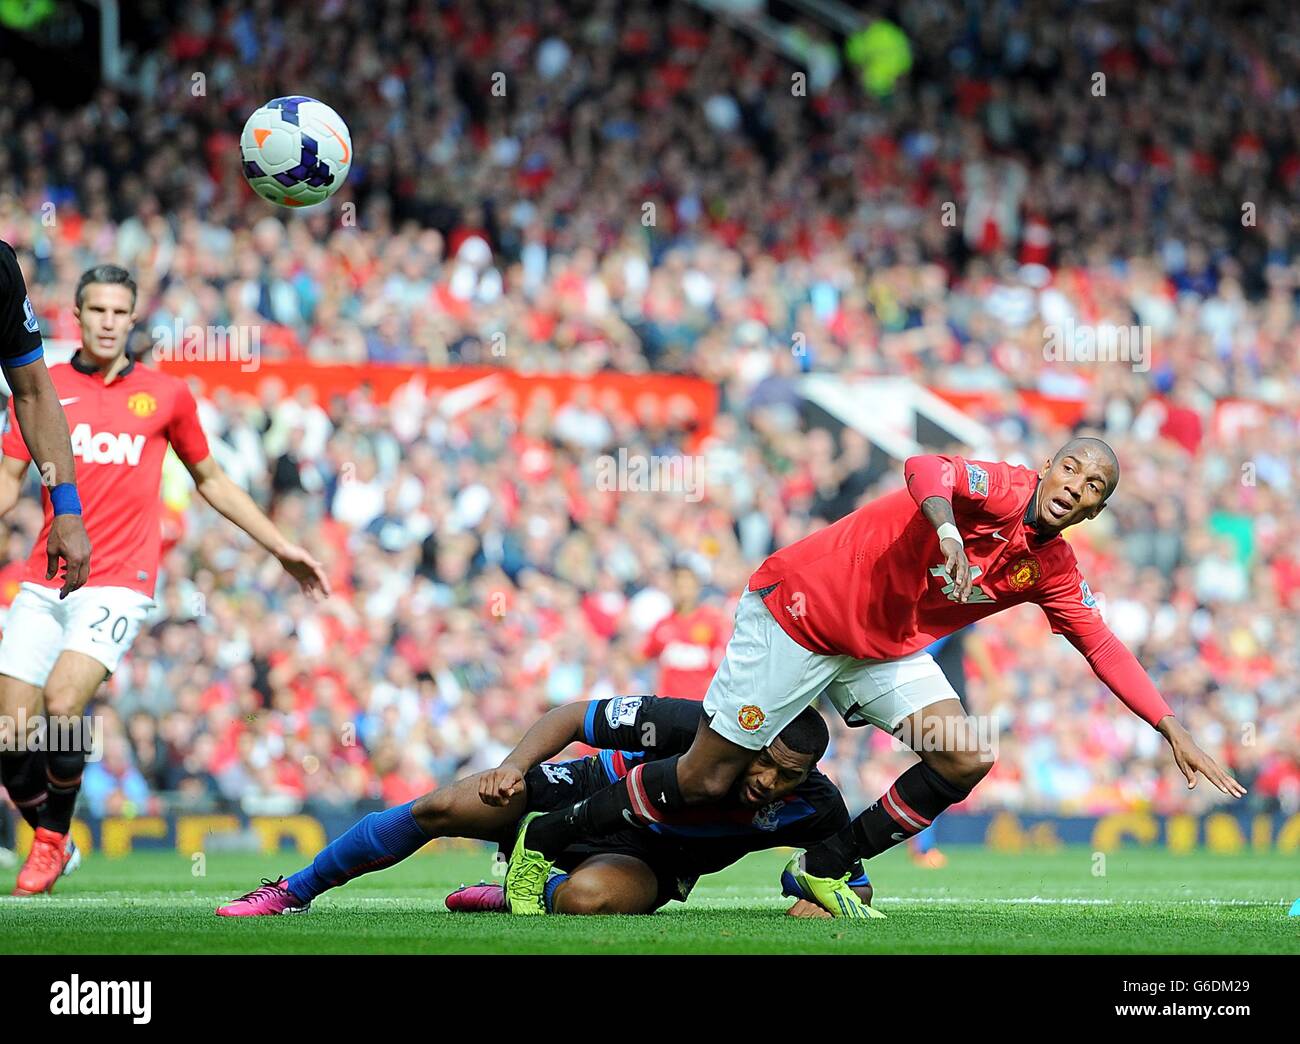
<path id="1" fill-rule="evenodd" d="M 528 787 L 526 810 L 552 813 L 603 790 L 610 785 L 610 777 L 601 759 L 593 755 L 538 764 L 524 775 L 524 783 Z M 630 828 L 607 837 L 581 837 L 560 853 L 555 866 L 569 872 L 593 855 L 630 855 L 649 866 L 659 883 L 655 910 L 667 902 L 685 902 L 699 879 L 698 875 L 682 874 L 675 866 L 677 861 L 663 850 L 662 842 L 656 844 L 650 831 Z"/>

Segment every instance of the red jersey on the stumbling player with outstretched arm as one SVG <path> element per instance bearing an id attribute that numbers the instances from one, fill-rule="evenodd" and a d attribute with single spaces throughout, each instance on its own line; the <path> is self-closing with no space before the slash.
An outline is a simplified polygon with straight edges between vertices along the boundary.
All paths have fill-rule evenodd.
<path id="1" fill-rule="evenodd" d="M 1052 629 L 1104 631 L 1097 602 L 1061 537 L 1026 524 L 1039 476 L 1013 464 L 937 458 L 952 476 L 953 516 L 974 588 L 956 601 L 935 527 L 901 489 L 771 555 L 750 577 L 785 632 L 805 649 L 897 659 L 1022 602 Z M 766 593 L 764 593 L 766 592 Z"/>

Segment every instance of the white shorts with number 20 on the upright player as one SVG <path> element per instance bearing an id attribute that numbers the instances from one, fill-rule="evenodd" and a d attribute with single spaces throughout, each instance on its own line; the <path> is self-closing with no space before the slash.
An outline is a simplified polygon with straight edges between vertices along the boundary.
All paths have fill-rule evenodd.
<path id="1" fill-rule="evenodd" d="M 57 588 L 25 582 L 5 616 L 0 675 L 43 688 L 64 650 L 113 673 L 152 608 L 152 598 L 130 588 L 79 588 L 60 601 Z"/>

